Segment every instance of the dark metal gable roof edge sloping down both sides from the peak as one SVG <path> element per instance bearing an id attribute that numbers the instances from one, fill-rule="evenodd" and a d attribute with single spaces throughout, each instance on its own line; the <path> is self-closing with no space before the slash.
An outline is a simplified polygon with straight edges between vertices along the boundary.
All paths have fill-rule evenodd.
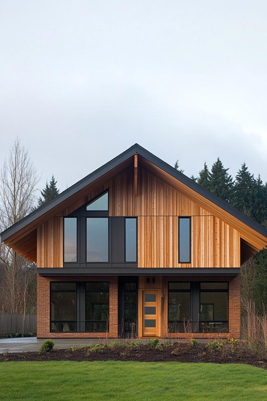
<path id="1" fill-rule="evenodd" d="M 197 182 L 191 180 L 191 178 L 187 177 L 185 174 L 180 173 L 177 171 L 174 167 L 170 166 L 163 160 L 159 159 L 157 156 L 154 154 L 150 153 L 148 150 L 145 148 L 142 148 L 139 144 L 135 144 L 116 156 L 114 159 L 110 160 L 108 163 L 104 164 L 88 176 L 84 177 L 82 180 L 76 182 L 76 184 L 70 186 L 70 188 L 67 188 L 63 192 L 61 192 L 58 196 L 53 198 L 50 202 L 45 203 L 43 206 L 39 207 L 20 221 L 18 221 L 16 224 L 12 225 L 5 231 L 1 233 L 1 241 L 4 241 L 11 235 L 15 234 L 17 231 L 20 229 L 26 227 L 29 223 L 32 223 L 34 220 L 38 219 L 38 217 L 41 217 L 44 215 L 46 212 L 50 211 L 52 208 L 55 206 L 59 205 L 61 202 L 65 201 L 67 198 L 70 196 L 74 195 L 76 192 L 87 186 L 88 184 L 91 184 L 94 180 L 97 178 L 100 178 L 116 166 L 118 166 L 120 163 L 124 162 L 131 156 L 133 156 L 135 153 L 138 153 L 140 156 L 143 158 L 147 159 L 149 162 L 152 164 L 155 164 L 155 166 L 161 168 L 177 180 L 181 181 L 183 184 L 187 185 L 189 188 L 193 189 L 195 192 L 199 193 L 200 195 L 204 196 L 207 198 L 209 201 L 213 202 L 215 205 L 219 206 L 221 209 L 225 210 L 226 212 L 230 213 L 243 223 L 247 224 L 249 227 L 252 229 L 256 230 L 260 234 L 264 235 L 267 237 L 267 229 L 263 227 L 263 225 L 257 223 L 250 217 L 244 215 L 244 213 L 238 211 L 235 209 L 233 206 L 229 205 L 229 203 L 223 201 L 220 199 L 218 196 L 215 196 L 211 192 L 209 192 L 207 189 L 203 188 Z"/>

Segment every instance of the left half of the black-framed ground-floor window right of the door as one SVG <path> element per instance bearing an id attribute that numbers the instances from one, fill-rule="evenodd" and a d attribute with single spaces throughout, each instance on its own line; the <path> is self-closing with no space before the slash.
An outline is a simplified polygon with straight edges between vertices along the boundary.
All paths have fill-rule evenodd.
<path id="1" fill-rule="evenodd" d="M 170 332 L 184 332 L 184 322 L 191 316 L 191 284 L 169 282 L 168 326 Z"/>

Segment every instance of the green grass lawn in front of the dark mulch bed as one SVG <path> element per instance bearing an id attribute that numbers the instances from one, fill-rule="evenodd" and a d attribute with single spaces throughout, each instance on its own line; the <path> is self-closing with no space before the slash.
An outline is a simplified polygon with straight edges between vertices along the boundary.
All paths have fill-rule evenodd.
<path id="1" fill-rule="evenodd" d="M 267 399 L 267 371 L 247 365 L 140 362 L 6 362 L 0 400 Z"/>

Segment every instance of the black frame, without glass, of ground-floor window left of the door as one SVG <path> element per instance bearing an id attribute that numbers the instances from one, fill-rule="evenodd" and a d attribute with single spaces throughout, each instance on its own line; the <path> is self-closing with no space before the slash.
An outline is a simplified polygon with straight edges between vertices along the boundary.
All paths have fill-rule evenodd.
<path id="1" fill-rule="evenodd" d="M 52 284 L 60 283 L 60 284 L 76 284 L 76 290 L 52 290 Z M 108 283 L 108 290 L 86 290 L 86 283 Z M 52 308 L 51 308 L 51 293 L 52 292 L 74 292 L 76 293 L 76 320 L 52 320 Z M 107 292 L 108 293 L 108 319 L 107 320 L 86 320 L 86 292 Z M 79 295 L 79 296 L 78 296 Z M 110 282 L 109 281 L 84 281 L 84 282 L 76 282 L 76 281 L 51 281 L 50 282 L 50 333 L 105 333 L 109 332 L 109 313 L 110 313 Z M 84 316 L 84 319 L 80 317 Z M 107 330 L 104 332 L 102 330 L 86 330 L 86 322 L 106 322 Z M 75 331 L 52 331 L 53 323 L 75 323 L 76 330 Z"/>

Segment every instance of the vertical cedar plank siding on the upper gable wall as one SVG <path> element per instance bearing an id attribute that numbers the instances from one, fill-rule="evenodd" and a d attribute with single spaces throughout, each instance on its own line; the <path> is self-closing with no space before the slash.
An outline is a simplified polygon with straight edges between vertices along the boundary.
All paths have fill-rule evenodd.
<path id="1" fill-rule="evenodd" d="M 109 189 L 110 216 L 138 216 L 138 267 L 240 267 L 239 232 L 143 166 L 127 168 L 37 228 L 37 267 L 63 267 L 63 216 Z M 191 216 L 191 264 L 178 263 L 178 219 Z"/>

